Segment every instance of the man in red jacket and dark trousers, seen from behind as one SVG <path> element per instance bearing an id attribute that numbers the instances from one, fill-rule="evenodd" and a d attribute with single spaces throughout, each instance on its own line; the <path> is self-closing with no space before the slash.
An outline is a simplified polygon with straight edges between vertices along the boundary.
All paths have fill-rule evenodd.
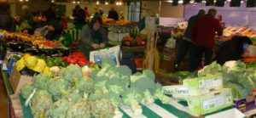
<path id="1" fill-rule="evenodd" d="M 209 9 L 208 14 L 198 19 L 192 28 L 191 38 L 196 46 L 196 65 L 200 65 L 203 53 L 206 59 L 205 65 L 212 63 L 214 37 L 216 32 L 218 32 L 218 36 L 223 35 L 224 29 L 219 24 L 219 21 L 215 19 L 216 14 L 216 9 Z"/>

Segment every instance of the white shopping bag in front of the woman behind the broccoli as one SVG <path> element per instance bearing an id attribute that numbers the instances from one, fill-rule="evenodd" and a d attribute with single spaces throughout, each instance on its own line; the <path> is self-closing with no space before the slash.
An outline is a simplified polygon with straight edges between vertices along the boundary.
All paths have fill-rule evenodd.
<path id="1" fill-rule="evenodd" d="M 97 65 L 101 65 L 103 59 L 112 59 L 115 62 L 116 66 L 119 66 L 119 53 L 119 46 L 91 51 L 90 62 L 96 63 Z"/>

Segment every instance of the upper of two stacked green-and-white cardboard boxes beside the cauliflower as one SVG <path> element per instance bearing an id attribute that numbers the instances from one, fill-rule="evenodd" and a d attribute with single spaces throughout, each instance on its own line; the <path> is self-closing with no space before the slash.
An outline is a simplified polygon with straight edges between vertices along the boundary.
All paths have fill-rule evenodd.
<path id="1" fill-rule="evenodd" d="M 190 95 L 202 95 L 223 88 L 222 73 L 183 80 L 183 86 L 189 87 Z"/>

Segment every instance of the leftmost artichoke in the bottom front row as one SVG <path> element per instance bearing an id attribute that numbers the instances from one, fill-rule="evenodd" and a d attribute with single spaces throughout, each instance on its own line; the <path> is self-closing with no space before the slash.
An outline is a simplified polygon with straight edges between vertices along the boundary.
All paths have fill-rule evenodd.
<path id="1" fill-rule="evenodd" d="M 30 109 L 33 117 L 49 117 L 48 110 L 52 104 L 52 99 L 44 95 L 34 99 Z"/>

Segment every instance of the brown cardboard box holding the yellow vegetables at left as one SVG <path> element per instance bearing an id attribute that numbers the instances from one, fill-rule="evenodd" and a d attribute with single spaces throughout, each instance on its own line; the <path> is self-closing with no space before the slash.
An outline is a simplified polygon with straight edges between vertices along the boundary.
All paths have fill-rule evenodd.
<path id="1" fill-rule="evenodd" d="M 16 65 L 9 76 L 9 83 L 13 88 L 14 93 L 20 93 L 20 88 L 26 84 L 26 82 L 32 81 L 32 76 L 23 76 L 20 71 L 16 69 Z"/>

